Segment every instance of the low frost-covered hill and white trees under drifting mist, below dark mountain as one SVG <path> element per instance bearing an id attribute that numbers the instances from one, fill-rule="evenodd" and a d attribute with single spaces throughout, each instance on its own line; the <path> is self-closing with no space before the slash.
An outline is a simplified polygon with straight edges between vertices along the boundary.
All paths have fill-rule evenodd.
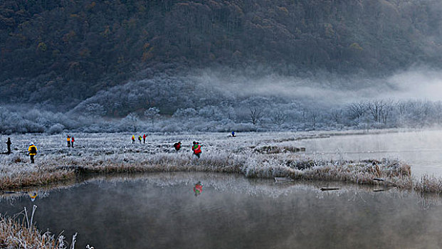
<path id="1" fill-rule="evenodd" d="M 386 78 L 193 70 L 101 90 L 67 112 L 2 105 L 0 133 L 434 127 L 442 123 L 441 79 L 428 68 Z"/>

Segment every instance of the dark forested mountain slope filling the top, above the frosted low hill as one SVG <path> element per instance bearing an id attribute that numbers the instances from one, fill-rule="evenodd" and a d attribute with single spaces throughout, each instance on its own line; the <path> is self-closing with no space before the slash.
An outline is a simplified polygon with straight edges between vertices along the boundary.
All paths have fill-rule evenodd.
<path id="1" fill-rule="evenodd" d="M 3 0 L 0 101 L 75 106 L 164 72 L 378 75 L 442 62 L 436 0 Z"/>

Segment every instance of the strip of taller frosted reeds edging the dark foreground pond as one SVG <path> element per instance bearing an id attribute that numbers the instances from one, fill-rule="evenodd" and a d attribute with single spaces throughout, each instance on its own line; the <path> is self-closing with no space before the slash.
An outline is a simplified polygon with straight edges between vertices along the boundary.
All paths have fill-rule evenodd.
<path id="1" fill-rule="evenodd" d="M 258 161 L 263 159 L 263 161 Z M 413 189 L 410 166 L 400 161 L 314 161 L 268 160 L 256 158 L 219 158 L 177 160 L 169 154 L 157 156 L 154 161 L 115 163 L 113 161 L 70 161 L 70 164 L 44 164 L 36 171 L 21 172 L 0 179 L 0 193 L 29 187 L 51 186 L 73 182 L 84 176 L 110 174 L 140 174 L 157 172 L 199 171 L 241 174 L 248 178 L 273 179 L 287 177 L 293 180 L 342 181 L 374 186 L 395 186 Z M 379 181 L 380 180 L 380 181 Z M 427 183 L 428 180 L 426 179 Z M 418 190 L 415 188 L 415 190 Z M 433 189 L 419 189 L 434 192 Z"/>

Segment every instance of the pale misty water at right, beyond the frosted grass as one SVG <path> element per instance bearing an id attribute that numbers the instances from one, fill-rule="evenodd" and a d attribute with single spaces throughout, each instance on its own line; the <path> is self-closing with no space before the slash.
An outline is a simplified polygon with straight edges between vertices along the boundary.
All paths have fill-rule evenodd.
<path id="1" fill-rule="evenodd" d="M 315 159 L 399 159 L 414 176 L 442 177 L 442 131 L 424 130 L 305 139 L 296 142 Z"/>

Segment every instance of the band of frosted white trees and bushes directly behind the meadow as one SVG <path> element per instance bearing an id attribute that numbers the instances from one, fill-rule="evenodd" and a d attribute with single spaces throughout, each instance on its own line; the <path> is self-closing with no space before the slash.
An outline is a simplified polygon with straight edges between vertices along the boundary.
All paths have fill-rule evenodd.
<path id="1" fill-rule="evenodd" d="M 305 131 L 432 127 L 442 124 L 442 102 L 367 100 L 333 108 L 247 97 L 239 102 L 178 108 L 172 115 L 157 107 L 105 117 L 105 107 L 90 104 L 83 113 L 0 107 L 0 134 L 76 132 L 228 132 Z"/>

